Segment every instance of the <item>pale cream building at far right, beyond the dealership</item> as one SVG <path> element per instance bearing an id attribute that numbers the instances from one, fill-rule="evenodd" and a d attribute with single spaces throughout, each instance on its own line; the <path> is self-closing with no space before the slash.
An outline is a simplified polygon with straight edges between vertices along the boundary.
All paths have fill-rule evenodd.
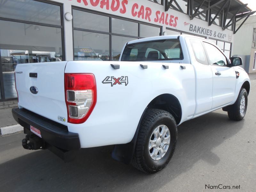
<path id="1" fill-rule="evenodd" d="M 241 25 L 244 20 L 237 22 Z M 244 21 L 234 36 L 233 55 L 241 57 L 247 73 L 256 73 L 256 15 Z"/>

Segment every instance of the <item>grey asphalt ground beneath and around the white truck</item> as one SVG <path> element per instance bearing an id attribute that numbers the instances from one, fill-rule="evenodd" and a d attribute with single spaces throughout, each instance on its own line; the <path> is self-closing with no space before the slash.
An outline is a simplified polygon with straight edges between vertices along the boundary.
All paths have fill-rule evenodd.
<path id="1" fill-rule="evenodd" d="M 21 147 L 23 133 L 0 136 L 1 191 L 256 191 L 256 76 L 247 114 L 217 110 L 181 124 L 171 162 L 153 175 L 111 158 L 112 146 L 83 149 L 64 163 L 48 150 Z M 205 189 L 205 185 L 240 189 Z"/>

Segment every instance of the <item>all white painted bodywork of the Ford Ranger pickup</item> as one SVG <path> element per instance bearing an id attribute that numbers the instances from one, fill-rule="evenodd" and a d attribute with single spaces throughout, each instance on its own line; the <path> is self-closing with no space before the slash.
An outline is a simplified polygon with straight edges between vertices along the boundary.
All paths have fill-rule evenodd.
<path id="1" fill-rule="evenodd" d="M 166 38 L 178 36 L 150 37 L 134 40 L 129 44 Z M 195 37 L 180 36 L 184 55 L 184 60 L 180 61 L 62 61 L 19 64 L 16 67 L 16 72 L 22 71 L 22 74 L 16 74 L 19 107 L 67 125 L 68 131 L 79 134 L 81 148 L 88 148 L 130 142 L 143 111 L 161 94 L 171 94 L 179 100 L 182 110 L 179 124 L 233 104 L 242 84 L 250 82 L 248 75 L 240 67 L 198 63 L 189 43 L 190 38 Z M 166 63 L 169 69 L 162 66 Z M 119 64 L 120 69 L 114 69 L 110 64 Z M 143 69 L 140 64 L 146 64 L 148 68 Z M 182 69 L 181 65 L 186 69 Z M 236 70 L 240 72 L 238 79 Z M 221 72 L 221 77 L 215 75 L 217 71 Z M 29 77 L 29 73 L 33 72 L 38 73 L 37 78 Z M 97 102 L 89 118 L 82 124 L 58 120 L 58 116 L 68 119 L 64 73 L 92 73 L 95 76 Z M 107 76 L 127 76 L 128 84 L 103 84 L 102 81 Z M 31 86 L 38 88 L 38 94 L 30 93 Z"/>

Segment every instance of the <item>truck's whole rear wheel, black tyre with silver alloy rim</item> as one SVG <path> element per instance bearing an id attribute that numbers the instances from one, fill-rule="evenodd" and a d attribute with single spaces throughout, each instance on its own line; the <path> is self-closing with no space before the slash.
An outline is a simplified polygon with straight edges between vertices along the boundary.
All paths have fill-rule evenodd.
<path id="1" fill-rule="evenodd" d="M 172 158 L 177 142 L 177 124 L 167 111 L 148 109 L 141 124 L 132 165 L 142 172 L 155 173 Z"/>

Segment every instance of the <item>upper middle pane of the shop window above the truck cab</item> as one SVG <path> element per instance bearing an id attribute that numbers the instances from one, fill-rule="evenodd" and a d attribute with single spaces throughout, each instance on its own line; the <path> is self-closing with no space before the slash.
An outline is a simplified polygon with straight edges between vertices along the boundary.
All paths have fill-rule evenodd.
<path id="1" fill-rule="evenodd" d="M 138 36 L 138 23 L 112 18 L 112 33 Z"/>

